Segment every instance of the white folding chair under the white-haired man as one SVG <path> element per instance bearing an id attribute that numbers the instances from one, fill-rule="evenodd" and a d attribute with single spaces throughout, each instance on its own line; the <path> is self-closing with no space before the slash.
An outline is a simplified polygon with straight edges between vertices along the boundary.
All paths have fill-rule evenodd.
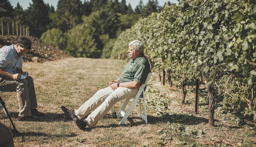
<path id="1" fill-rule="evenodd" d="M 147 76 L 147 79 L 145 81 L 145 84 L 142 84 L 139 88 L 139 91 L 137 92 L 136 96 L 134 98 L 131 98 L 133 99 L 132 101 L 132 104 L 129 106 L 129 108 L 127 109 L 126 113 L 124 112 L 124 109 L 125 107 L 127 106 L 128 102 L 130 99 L 126 99 L 124 101 L 124 104 L 123 106 L 120 108 L 118 114 L 117 114 L 117 118 L 120 118 L 120 116 L 122 115 L 123 118 L 121 120 L 121 122 L 119 123 L 120 124 L 124 124 L 124 122 L 126 121 L 126 119 L 128 118 L 129 114 L 131 113 L 133 107 L 135 106 L 136 102 L 139 100 L 139 114 L 140 114 L 140 118 L 142 118 L 145 123 L 148 123 L 148 120 L 147 120 L 147 111 L 146 111 L 146 100 L 145 100 L 145 94 L 144 94 L 144 88 L 149 80 L 151 76 L 151 73 L 148 73 L 148 76 Z M 142 94 L 141 94 L 142 93 Z M 142 110 L 141 110 L 141 103 L 140 101 L 143 100 L 143 104 L 144 104 L 144 114 L 142 114 Z"/>

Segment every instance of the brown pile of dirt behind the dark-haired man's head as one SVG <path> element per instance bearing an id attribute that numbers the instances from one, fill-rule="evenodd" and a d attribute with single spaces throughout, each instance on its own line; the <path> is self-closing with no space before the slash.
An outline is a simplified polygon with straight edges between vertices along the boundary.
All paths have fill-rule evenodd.
<path id="1" fill-rule="evenodd" d="M 0 47 L 15 44 L 19 36 L 0 36 Z M 23 56 L 26 62 L 45 62 L 69 57 L 63 51 L 45 44 L 36 37 L 28 37 L 32 42 L 31 50 Z"/>

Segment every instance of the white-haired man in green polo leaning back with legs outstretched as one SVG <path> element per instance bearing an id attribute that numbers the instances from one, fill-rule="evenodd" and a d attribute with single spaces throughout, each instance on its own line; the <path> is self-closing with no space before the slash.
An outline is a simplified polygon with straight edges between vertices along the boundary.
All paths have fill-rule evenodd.
<path id="1" fill-rule="evenodd" d="M 121 76 L 109 82 L 109 87 L 98 90 L 78 109 L 70 110 L 60 106 L 63 112 L 73 119 L 80 129 L 96 125 L 115 103 L 135 97 L 139 86 L 145 83 L 147 75 L 150 73 L 150 66 L 147 57 L 143 53 L 144 44 L 141 41 L 134 40 L 128 46 L 131 60 L 125 66 Z M 89 114 L 90 112 L 92 113 Z"/>

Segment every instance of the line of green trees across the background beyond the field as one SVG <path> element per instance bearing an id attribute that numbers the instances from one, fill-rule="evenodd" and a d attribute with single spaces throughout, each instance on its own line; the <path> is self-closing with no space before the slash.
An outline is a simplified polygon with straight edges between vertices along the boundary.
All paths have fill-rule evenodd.
<path id="1" fill-rule="evenodd" d="M 170 2 L 168 2 L 170 4 Z M 30 35 L 75 57 L 110 57 L 118 34 L 139 18 L 162 9 L 149 0 L 132 9 L 125 0 L 59 0 L 56 10 L 43 0 L 32 0 L 27 9 L 0 0 L 0 18 L 30 26 Z"/>

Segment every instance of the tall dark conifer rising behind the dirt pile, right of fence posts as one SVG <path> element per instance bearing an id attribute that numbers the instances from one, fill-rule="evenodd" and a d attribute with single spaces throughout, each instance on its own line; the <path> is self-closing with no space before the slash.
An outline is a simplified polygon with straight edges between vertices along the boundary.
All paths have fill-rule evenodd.
<path id="1" fill-rule="evenodd" d="M 43 0 L 32 0 L 27 10 L 26 21 L 30 26 L 30 34 L 40 37 L 50 23 L 49 10 Z"/>

